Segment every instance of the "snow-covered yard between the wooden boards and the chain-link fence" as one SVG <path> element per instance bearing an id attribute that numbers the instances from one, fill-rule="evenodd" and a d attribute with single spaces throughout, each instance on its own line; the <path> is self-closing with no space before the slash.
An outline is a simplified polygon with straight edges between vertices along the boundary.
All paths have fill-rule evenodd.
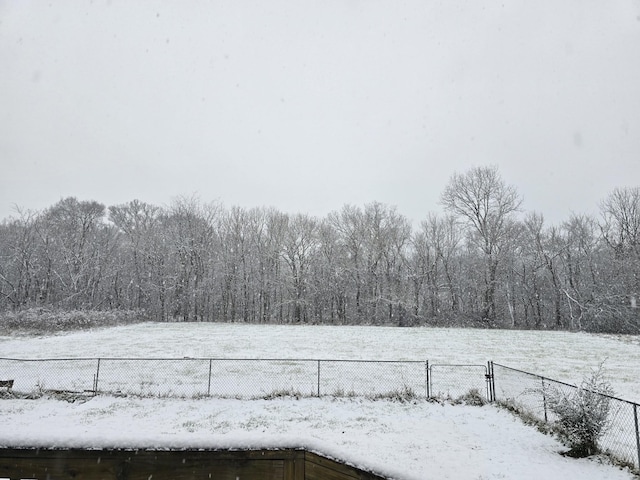
<path id="1" fill-rule="evenodd" d="M 57 447 L 305 447 L 402 480 L 630 480 L 572 459 L 553 438 L 493 406 L 359 398 L 96 397 L 0 400 L 0 444 Z"/>

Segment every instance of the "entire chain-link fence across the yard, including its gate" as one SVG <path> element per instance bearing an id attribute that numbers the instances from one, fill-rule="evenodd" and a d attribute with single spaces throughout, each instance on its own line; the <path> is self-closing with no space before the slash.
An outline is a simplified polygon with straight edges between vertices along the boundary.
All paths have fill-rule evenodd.
<path id="1" fill-rule="evenodd" d="M 571 396 L 578 387 L 505 365 L 430 364 L 428 361 L 222 358 L 0 358 L 0 381 L 12 395 L 135 395 L 175 398 L 365 396 L 498 400 L 534 418 L 558 420 L 549 389 Z M 8 391 L 9 388 L 0 388 Z M 0 394 L 2 391 L 0 391 Z M 638 407 L 609 398 L 603 451 L 640 468 Z"/>

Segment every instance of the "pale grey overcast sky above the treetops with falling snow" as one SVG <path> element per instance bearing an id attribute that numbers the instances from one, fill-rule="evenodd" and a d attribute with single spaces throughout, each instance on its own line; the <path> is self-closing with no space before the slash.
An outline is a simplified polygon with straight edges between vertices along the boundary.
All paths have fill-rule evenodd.
<path id="1" fill-rule="evenodd" d="M 0 219 L 197 194 L 418 222 L 491 164 L 549 223 L 640 185 L 640 0 L 0 0 Z"/>

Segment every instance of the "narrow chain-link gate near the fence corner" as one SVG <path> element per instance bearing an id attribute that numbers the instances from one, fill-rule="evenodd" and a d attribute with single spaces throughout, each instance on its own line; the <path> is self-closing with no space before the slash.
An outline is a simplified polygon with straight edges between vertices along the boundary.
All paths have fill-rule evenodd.
<path id="1" fill-rule="evenodd" d="M 477 393 L 491 401 L 492 380 L 490 365 L 430 364 L 427 397 L 456 399 L 469 393 Z"/>

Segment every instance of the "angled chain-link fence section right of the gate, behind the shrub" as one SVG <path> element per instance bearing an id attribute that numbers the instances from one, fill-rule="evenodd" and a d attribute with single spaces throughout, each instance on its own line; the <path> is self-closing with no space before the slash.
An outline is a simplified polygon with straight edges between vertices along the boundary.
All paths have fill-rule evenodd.
<path id="1" fill-rule="evenodd" d="M 576 385 L 524 372 L 491 362 L 495 388 L 494 399 L 527 413 L 539 421 L 554 423 L 556 414 L 549 408 L 548 394 L 553 391 L 570 398 L 579 389 Z M 638 404 L 609 395 L 607 428 L 598 445 L 618 460 L 640 469 L 640 431 Z"/>

